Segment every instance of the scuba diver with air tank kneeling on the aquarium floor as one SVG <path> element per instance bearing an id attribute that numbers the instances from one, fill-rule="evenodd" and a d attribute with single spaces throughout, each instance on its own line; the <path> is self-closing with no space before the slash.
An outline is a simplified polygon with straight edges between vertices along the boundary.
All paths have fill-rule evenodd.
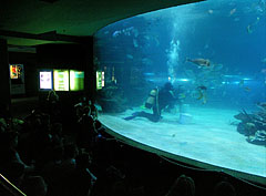
<path id="1" fill-rule="evenodd" d="M 125 117 L 124 120 L 129 121 L 135 117 L 146 117 L 152 122 L 158 122 L 162 118 L 162 110 L 174 106 L 176 97 L 174 96 L 173 90 L 174 87 L 170 82 L 166 82 L 160 90 L 158 87 L 153 89 L 145 102 L 145 107 L 152 109 L 153 114 L 144 111 L 135 112 L 132 116 Z"/>

